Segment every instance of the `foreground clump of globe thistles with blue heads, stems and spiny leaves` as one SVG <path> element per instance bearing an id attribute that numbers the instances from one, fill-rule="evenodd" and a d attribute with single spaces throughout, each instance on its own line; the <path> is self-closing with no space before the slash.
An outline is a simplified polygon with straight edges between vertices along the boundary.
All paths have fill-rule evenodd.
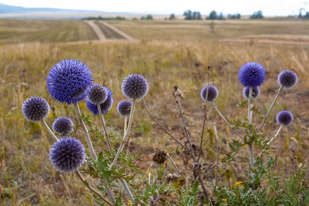
<path id="1" fill-rule="evenodd" d="M 204 110 L 204 114 L 201 115 L 203 117 L 203 127 L 201 131 L 198 130 L 197 132 L 201 134 L 199 145 L 194 142 L 186 122 L 186 113 L 182 105 L 182 102 L 186 99 L 181 90 L 174 86 L 172 92 L 176 103 L 175 107 L 178 108 L 180 117 L 181 132 L 180 137 L 176 138 L 172 132 L 168 131 L 168 128 L 165 128 L 155 119 L 146 106 L 144 98 L 148 93 L 149 83 L 144 76 L 139 74 L 128 75 L 121 84 L 124 97 L 129 99 L 119 101 L 116 108 L 119 116 L 124 118 L 123 133 L 121 131 L 121 135 L 117 136 L 116 132 L 109 131 L 106 126 L 108 122 L 105 121 L 104 115 L 108 114 L 113 107 L 113 92 L 104 85 L 94 83 L 90 69 L 82 62 L 74 59 L 65 59 L 55 64 L 48 73 L 46 86 L 55 102 L 74 106 L 77 123 L 73 123 L 67 117 L 59 117 L 54 120 L 51 130 L 45 122 L 50 112 L 50 106 L 45 99 L 38 96 L 30 97 L 24 101 L 22 113 L 28 121 L 43 124 L 49 135 L 55 140 L 49 150 L 49 160 L 54 169 L 64 173 L 75 172 L 78 179 L 98 197 L 95 199 L 98 205 L 288 205 L 284 202 L 284 199 L 290 200 L 293 195 L 300 197 L 297 199 L 298 203 L 308 204 L 306 200 L 309 197 L 309 188 L 306 181 L 302 181 L 305 169 L 299 169 L 291 175 L 290 179 L 284 179 L 283 188 L 279 188 L 280 181 L 271 173 L 271 168 L 277 160 L 277 157 L 273 158 L 270 155 L 270 150 L 273 149 L 271 143 L 280 134 L 283 127 L 292 124 L 294 119 L 292 113 L 283 110 L 277 114 L 278 129 L 273 135 L 260 132 L 263 125 L 267 123 L 270 111 L 278 99 L 279 92 L 283 88 L 293 87 L 298 80 L 297 74 L 291 70 L 284 70 L 278 75 L 280 87 L 267 114 L 263 115 L 255 104 L 259 100 L 258 97 L 263 95 L 260 87 L 263 86 L 266 78 L 265 69 L 257 62 L 243 64 L 239 69 L 238 79 L 244 86 L 242 90 L 244 100 L 238 104 L 238 107 L 248 104 L 247 115 L 244 120 L 233 119 L 231 121 L 219 111 L 215 103 L 220 99 L 220 93 L 218 88 L 213 85 L 215 83 L 209 83 L 209 70 L 210 66 L 207 67 L 207 85 L 202 86 L 199 92 L 203 101 L 202 109 Z M 164 134 L 167 134 L 172 141 L 177 143 L 172 155 L 169 155 L 166 150 L 155 149 L 152 161 L 157 164 L 157 169 L 154 180 L 151 180 L 149 176 L 148 181 L 144 181 L 146 174 L 136 165 L 138 158 L 142 156 L 142 151 L 137 155 L 132 155 L 128 150 L 124 149 L 124 145 L 130 137 L 135 104 L 138 100 L 141 101 L 147 113 L 159 128 L 164 131 Z M 88 109 L 85 112 L 90 111 L 94 117 L 99 117 L 102 128 L 98 128 L 97 124 L 90 120 L 90 116 L 80 112 L 78 103 L 81 101 L 85 102 Z M 224 124 L 227 124 L 232 133 L 236 135 L 236 138 L 227 140 L 230 141 L 228 143 L 230 148 L 229 152 L 221 159 L 222 164 L 219 163 L 222 146 L 219 145 L 221 142 L 220 130 L 217 128 L 224 126 L 217 124 L 215 120 L 211 121 L 214 136 L 216 137 L 216 148 L 213 149 L 216 150 L 216 161 L 214 163 L 205 163 L 201 157 L 205 147 L 203 139 L 204 126 L 206 121 L 210 121 L 207 116 L 207 111 L 209 111 L 206 107 L 207 103 L 212 103 L 213 109 L 219 115 L 219 118 L 222 118 Z M 254 114 L 256 114 L 257 118 L 262 119 L 261 124 L 255 125 L 253 121 L 255 120 L 253 118 Z M 127 118 L 129 119 L 127 120 Z M 87 147 L 82 144 L 82 139 L 77 139 L 77 136 L 71 137 L 75 133 L 73 131 L 77 131 L 78 127 L 82 129 Z M 106 143 L 107 148 L 100 148 L 100 150 L 95 151 L 93 147 L 94 140 L 102 140 Z M 118 144 L 120 145 L 116 147 Z M 249 146 L 250 154 L 248 157 L 250 174 L 245 174 L 247 181 L 238 182 L 233 187 L 230 187 L 230 176 L 228 174 L 226 177 L 229 186 L 221 185 L 224 181 L 220 178 L 220 176 L 223 176 L 220 174 L 221 167 L 230 165 L 234 161 L 234 156 L 245 145 Z M 181 149 L 179 150 L 179 148 Z M 259 155 L 255 154 L 256 150 L 261 151 Z M 186 166 L 185 168 L 189 168 L 188 171 L 184 172 L 179 169 L 180 167 L 177 165 L 179 163 L 173 160 L 178 154 Z M 165 175 L 169 171 L 167 161 L 174 165 L 180 175 L 178 173 L 176 173 L 177 175 L 173 173 Z M 159 165 L 162 167 L 167 165 L 161 179 L 158 175 L 160 172 Z M 206 165 L 212 165 L 210 169 L 215 169 L 214 181 L 205 178 Z M 141 181 L 136 178 L 138 174 L 144 175 Z M 101 181 L 100 185 L 92 187 L 83 175 L 87 175 L 87 178 L 99 179 Z M 119 180 L 122 187 L 116 189 Z M 172 181 L 177 181 L 177 184 L 172 183 Z M 295 183 L 297 181 L 298 183 L 301 182 L 298 187 Z M 267 195 L 268 191 L 262 188 L 262 182 L 264 185 L 269 184 L 274 192 L 279 192 L 273 196 Z M 129 202 L 123 196 L 121 189 L 124 189 L 128 195 Z M 120 192 L 116 193 L 116 191 Z M 302 193 L 302 195 L 300 196 L 299 193 Z M 174 195 L 175 203 L 167 200 L 169 195 Z"/>

